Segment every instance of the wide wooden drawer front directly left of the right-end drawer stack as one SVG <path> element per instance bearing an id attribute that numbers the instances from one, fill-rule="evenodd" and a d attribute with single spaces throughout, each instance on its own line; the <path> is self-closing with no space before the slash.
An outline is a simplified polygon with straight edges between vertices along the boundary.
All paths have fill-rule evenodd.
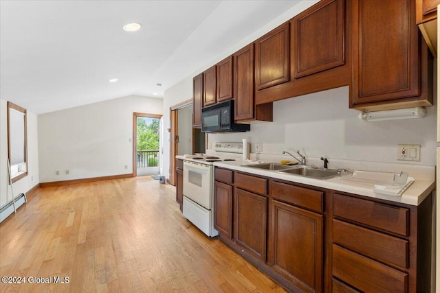
<path id="1" fill-rule="evenodd" d="M 323 211 L 322 196 L 324 193 L 322 191 L 271 181 L 270 194 L 273 198 L 289 204 L 295 204 L 320 213 Z"/>

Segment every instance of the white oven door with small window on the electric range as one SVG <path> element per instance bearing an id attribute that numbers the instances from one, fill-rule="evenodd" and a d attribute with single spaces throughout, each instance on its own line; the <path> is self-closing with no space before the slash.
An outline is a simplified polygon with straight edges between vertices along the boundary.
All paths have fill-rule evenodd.
<path id="1" fill-rule="evenodd" d="M 212 165 L 184 161 L 184 196 L 212 209 Z"/>

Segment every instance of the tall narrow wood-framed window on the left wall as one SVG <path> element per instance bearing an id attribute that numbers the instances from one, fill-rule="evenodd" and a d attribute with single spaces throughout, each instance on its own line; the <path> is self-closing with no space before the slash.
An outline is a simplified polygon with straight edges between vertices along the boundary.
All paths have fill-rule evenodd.
<path id="1" fill-rule="evenodd" d="M 26 109 L 8 102 L 8 159 L 12 182 L 28 175 Z"/>

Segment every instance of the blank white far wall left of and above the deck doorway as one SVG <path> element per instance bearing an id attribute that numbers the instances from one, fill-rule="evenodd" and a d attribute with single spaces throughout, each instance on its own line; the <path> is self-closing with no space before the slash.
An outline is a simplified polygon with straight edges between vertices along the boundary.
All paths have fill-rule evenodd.
<path id="1" fill-rule="evenodd" d="M 133 113 L 162 109 L 162 99 L 132 95 L 39 115 L 41 182 L 131 174 Z"/>

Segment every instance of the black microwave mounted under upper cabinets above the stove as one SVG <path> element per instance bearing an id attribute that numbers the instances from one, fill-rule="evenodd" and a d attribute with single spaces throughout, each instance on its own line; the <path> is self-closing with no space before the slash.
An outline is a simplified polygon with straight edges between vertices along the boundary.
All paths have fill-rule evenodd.
<path id="1" fill-rule="evenodd" d="M 249 124 L 234 123 L 233 99 L 201 109 L 201 131 L 203 132 L 242 132 L 249 130 Z"/>

